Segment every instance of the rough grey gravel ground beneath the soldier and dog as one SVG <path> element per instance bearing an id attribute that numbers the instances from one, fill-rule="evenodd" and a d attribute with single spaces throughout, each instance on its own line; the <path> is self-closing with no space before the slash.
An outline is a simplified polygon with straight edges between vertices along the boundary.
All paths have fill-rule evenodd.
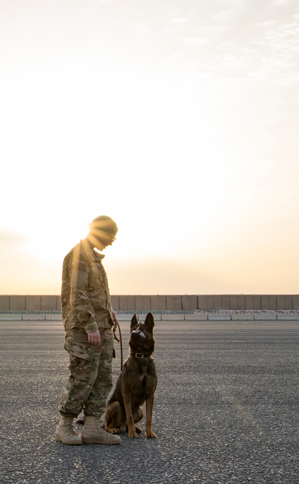
<path id="1" fill-rule="evenodd" d="M 54 439 L 68 375 L 61 322 L 0 321 L 0 483 L 298 484 L 298 329 L 158 321 L 157 438 L 73 447 Z"/>

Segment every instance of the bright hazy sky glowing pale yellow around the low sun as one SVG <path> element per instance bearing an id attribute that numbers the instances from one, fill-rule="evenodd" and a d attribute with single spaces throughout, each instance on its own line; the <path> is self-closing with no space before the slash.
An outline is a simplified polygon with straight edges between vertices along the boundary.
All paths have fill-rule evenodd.
<path id="1" fill-rule="evenodd" d="M 299 293 L 299 1 L 0 0 L 0 293 Z"/>

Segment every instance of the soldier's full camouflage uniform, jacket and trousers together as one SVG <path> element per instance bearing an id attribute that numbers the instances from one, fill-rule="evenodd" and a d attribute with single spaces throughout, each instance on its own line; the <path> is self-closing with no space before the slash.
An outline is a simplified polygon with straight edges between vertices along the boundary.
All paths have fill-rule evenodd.
<path id="1" fill-rule="evenodd" d="M 64 258 L 62 269 L 62 319 L 64 348 L 71 371 L 61 398 L 61 415 L 100 417 L 112 389 L 114 324 L 110 293 L 102 259 L 105 257 L 80 241 Z M 101 345 L 91 346 L 88 334 L 99 329 Z"/>

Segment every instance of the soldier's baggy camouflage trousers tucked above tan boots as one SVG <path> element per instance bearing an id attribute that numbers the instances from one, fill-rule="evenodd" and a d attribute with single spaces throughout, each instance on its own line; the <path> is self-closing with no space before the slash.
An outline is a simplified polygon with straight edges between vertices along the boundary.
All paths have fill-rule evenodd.
<path id="1" fill-rule="evenodd" d="M 87 333 L 74 328 L 65 332 L 64 348 L 69 352 L 71 371 L 61 397 L 61 415 L 101 417 L 106 399 L 112 389 L 113 332 L 99 328 L 101 345 L 91 346 Z"/>

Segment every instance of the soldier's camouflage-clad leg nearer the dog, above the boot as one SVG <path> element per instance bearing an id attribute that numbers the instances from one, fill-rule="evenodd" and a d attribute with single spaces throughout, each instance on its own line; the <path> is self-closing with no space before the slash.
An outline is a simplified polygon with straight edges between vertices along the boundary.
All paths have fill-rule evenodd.
<path id="1" fill-rule="evenodd" d="M 89 397 L 85 402 L 85 415 L 101 417 L 105 412 L 106 400 L 112 389 L 112 356 L 113 356 L 113 332 L 110 328 L 100 328 L 101 356 L 98 362 L 98 374 Z"/>

